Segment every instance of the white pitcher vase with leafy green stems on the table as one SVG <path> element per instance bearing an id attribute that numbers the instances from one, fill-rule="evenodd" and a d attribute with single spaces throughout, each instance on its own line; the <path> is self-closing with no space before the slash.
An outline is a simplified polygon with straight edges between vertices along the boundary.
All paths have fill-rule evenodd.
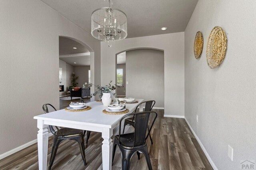
<path id="1" fill-rule="evenodd" d="M 88 87 L 92 87 L 92 85 L 94 85 L 95 87 L 97 87 L 97 91 L 94 92 L 93 94 L 91 94 L 92 96 L 95 96 L 97 94 L 100 94 L 99 97 L 102 100 L 103 105 L 110 105 L 111 101 L 112 101 L 112 97 L 111 94 L 116 97 L 116 93 L 112 93 L 113 90 L 116 89 L 117 86 L 116 84 L 111 85 L 112 81 L 110 81 L 108 83 L 108 85 L 105 86 L 100 86 L 100 85 L 94 85 L 92 83 L 84 83 L 83 87 L 85 87 L 86 85 L 88 85 Z M 120 88 L 120 87 L 119 87 Z"/>

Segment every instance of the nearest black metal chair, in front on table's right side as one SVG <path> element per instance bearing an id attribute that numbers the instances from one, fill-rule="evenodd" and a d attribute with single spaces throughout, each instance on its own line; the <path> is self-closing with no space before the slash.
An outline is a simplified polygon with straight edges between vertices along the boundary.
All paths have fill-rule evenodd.
<path id="1" fill-rule="evenodd" d="M 150 128 L 148 128 L 148 121 L 150 115 L 153 115 L 154 119 L 152 121 L 152 124 L 150 125 Z M 128 116 L 134 116 L 134 132 L 120 134 L 122 120 Z M 129 170 L 133 154 L 137 153 L 139 159 L 140 152 L 142 152 L 145 155 L 146 162 L 148 164 L 148 169 L 152 170 L 146 139 L 148 138 L 150 131 L 154 125 L 154 122 L 156 121 L 156 117 L 156 112 L 145 111 L 138 113 L 130 113 L 121 118 L 119 122 L 119 134 L 114 136 L 112 164 L 114 161 L 116 146 L 118 146 L 122 156 L 122 170 Z M 147 129 L 148 133 L 146 134 Z"/>

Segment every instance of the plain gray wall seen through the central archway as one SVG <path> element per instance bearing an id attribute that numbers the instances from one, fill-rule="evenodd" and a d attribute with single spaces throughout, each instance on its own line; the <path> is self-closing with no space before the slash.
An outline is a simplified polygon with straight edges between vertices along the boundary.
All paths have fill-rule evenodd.
<path id="1" fill-rule="evenodd" d="M 164 107 L 164 52 L 136 49 L 126 52 L 126 97 L 155 100 Z"/>

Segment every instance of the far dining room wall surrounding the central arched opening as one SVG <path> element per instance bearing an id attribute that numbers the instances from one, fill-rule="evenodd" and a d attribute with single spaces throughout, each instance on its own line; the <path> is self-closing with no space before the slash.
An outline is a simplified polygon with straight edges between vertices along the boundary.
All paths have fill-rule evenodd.
<path id="1" fill-rule="evenodd" d="M 164 114 L 184 116 L 184 32 L 101 42 L 101 84 L 116 79 L 116 53 L 136 48 L 164 50 Z"/>

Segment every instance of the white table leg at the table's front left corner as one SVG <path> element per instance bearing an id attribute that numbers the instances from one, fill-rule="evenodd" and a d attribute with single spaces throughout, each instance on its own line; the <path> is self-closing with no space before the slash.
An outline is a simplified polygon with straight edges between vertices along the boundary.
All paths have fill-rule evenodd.
<path id="1" fill-rule="evenodd" d="M 37 145 L 38 145 L 38 166 L 39 170 L 47 169 L 47 151 L 48 151 L 48 125 L 44 125 L 44 121 L 37 120 Z"/>

